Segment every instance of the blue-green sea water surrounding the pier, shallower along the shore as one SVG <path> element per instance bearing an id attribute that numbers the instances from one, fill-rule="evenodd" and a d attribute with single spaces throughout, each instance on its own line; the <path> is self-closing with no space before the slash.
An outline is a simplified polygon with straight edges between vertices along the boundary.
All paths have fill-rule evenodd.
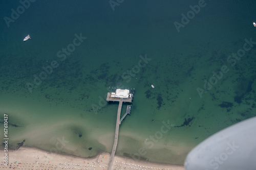
<path id="1" fill-rule="evenodd" d="M 135 88 L 120 156 L 183 164 L 202 140 L 255 116 L 255 2 L 205 1 L 194 16 L 199 2 L 123 1 L 113 11 L 109 1 L 35 1 L 9 27 L 22 4 L 2 2 L 0 141 L 7 114 L 9 148 L 111 152 L 118 104 L 104 99 L 118 87 Z"/>

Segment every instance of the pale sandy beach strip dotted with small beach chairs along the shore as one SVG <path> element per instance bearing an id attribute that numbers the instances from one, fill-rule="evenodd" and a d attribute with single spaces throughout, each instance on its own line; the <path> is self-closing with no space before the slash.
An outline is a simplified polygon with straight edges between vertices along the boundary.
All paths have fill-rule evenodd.
<path id="1" fill-rule="evenodd" d="M 5 152 L 0 151 L 4 156 Z M 2 157 L 1 156 L 1 157 Z M 2 157 L 3 159 L 4 157 Z M 20 147 L 8 150 L 8 165 L 1 161 L 0 169 L 108 169 L 109 153 L 101 153 L 93 158 L 79 158 L 69 155 L 50 153 L 35 148 Z M 142 162 L 115 156 L 112 169 L 174 169 L 184 170 L 183 166 Z"/>

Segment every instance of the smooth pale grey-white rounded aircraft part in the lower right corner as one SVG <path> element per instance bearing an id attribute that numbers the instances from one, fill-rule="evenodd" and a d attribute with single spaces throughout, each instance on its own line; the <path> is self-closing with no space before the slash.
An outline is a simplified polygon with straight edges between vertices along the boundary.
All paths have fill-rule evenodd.
<path id="1" fill-rule="evenodd" d="M 256 169 L 256 117 L 202 141 L 188 153 L 184 166 L 186 170 Z"/>

